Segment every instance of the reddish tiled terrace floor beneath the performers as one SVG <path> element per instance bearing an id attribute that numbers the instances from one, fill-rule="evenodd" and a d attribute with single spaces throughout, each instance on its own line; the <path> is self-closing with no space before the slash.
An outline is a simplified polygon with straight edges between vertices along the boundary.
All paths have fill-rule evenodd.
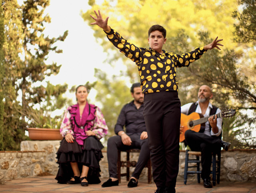
<path id="1" fill-rule="evenodd" d="M 67 185 L 58 184 L 55 176 L 30 177 L 14 179 L 0 185 L 0 193 L 153 193 L 156 190 L 154 183 L 148 184 L 146 181 L 139 181 L 138 187 L 128 188 L 125 179 L 122 179 L 118 186 L 102 188 L 101 184 L 82 187 L 80 184 Z M 101 179 L 104 182 L 106 179 Z M 204 188 L 202 182 L 188 181 L 187 185 L 183 181 L 177 181 L 177 193 L 256 193 L 256 183 L 234 183 L 220 182 L 213 188 Z"/>

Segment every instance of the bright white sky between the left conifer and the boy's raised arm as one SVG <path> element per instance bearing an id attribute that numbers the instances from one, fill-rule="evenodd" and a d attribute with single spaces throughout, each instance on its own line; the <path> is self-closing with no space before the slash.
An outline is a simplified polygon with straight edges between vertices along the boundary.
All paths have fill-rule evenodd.
<path id="1" fill-rule="evenodd" d="M 22 4 L 23 0 L 18 0 L 18 3 Z M 57 38 L 68 30 L 64 42 L 54 44 L 63 50 L 63 53 L 52 52 L 46 61 L 47 64 L 56 62 L 57 65 L 62 65 L 58 75 L 46 78 L 51 84 L 67 83 L 70 89 L 73 85 L 96 81 L 94 68 L 108 69 L 107 65 L 103 64 L 106 53 L 96 42 L 90 24 L 84 22 L 80 14 L 89 8 L 87 0 L 51 0 L 50 6 L 46 8 L 44 13 L 49 14 L 51 23 L 45 26 L 45 36 Z M 90 99 L 93 100 L 95 94 L 90 93 Z M 74 98 L 74 93 L 68 97 Z"/>

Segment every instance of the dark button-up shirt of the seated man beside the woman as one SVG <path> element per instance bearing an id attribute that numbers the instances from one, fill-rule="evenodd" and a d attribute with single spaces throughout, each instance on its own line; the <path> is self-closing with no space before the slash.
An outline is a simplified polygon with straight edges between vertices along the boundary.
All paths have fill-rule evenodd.
<path id="1" fill-rule="evenodd" d="M 119 131 L 124 131 L 124 126 L 126 127 L 127 135 L 132 135 L 133 133 L 140 135 L 143 131 L 147 131 L 143 109 L 143 104 L 137 109 L 134 105 L 134 101 L 124 105 L 116 122 L 115 133 L 118 134 Z"/>

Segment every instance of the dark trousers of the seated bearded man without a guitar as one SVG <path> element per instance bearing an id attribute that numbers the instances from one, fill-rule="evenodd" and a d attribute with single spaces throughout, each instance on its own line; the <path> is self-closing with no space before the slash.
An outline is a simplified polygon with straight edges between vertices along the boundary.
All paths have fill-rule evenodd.
<path id="1" fill-rule="evenodd" d="M 114 135 L 108 139 L 108 173 L 109 177 L 117 177 L 117 159 L 118 159 L 118 149 L 128 150 L 128 149 L 140 149 L 140 155 L 132 173 L 132 177 L 139 179 L 142 169 L 145 167 L 148 159 L 150 159 L 150 150 L 148 148 L 148 139 L 141 140 L 140 135 L 134 133 L 129 135 L 132 140 L 132 145 L 124 145 L 122 143 L 121 137 L 119 135 Z"/>

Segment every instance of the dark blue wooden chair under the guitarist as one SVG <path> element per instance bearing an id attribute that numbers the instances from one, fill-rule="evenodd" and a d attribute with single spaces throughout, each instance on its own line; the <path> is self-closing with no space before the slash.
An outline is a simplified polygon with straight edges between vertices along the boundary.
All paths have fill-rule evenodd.
<path id="1" fill-rule="evenodd" d="M 196 159 L 189 159 L 189 155 L 195 155 Z M 201 156 L 200 151 L 189 151 L 186 150 L 186 157 L 185 157 L 185 168 L 184 168 L 184 184 L 187 183 L 187 176 L 188 174 L 197 174 L 197 182 L 200 183 L 200 159 Z M 217 159 L 216 159 L 217 156 Z M 217 176 L 217 183 L 220 183 L 220 157 L 221 157 L 221 151 L 218 151 L 217 153 L 212 153 L 212 185 L 216 185 L 216 176 Z M 196 163 L 196 165 L 188 166 L 188 163 Z M 188 171 L 188 168 L 196 167 L 196 171 Z"/>

